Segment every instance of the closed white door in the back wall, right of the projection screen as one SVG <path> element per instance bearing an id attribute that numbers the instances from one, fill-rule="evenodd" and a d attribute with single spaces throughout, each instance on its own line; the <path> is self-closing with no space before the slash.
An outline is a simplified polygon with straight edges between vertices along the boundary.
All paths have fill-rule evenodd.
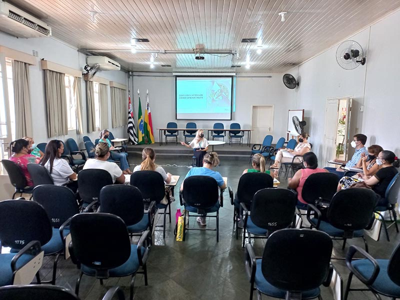
<path id="1" fill-rule="evenodd" d="M 251 143 L 262 143 L 273 131 L 273 105 L 253 105 L 251 111 Z"/>

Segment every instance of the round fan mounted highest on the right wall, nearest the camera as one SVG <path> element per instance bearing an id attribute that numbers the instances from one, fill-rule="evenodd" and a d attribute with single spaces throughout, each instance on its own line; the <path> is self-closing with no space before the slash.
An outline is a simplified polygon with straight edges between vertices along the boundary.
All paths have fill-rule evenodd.
<path id="1" fill-rule="evenodd" d="M 342 68 L 352 70 L 360 64 L 364 65 L 366 59 L 359 43 L 354 40 L 346 40 L 337 47 L 336 61 Z"/>

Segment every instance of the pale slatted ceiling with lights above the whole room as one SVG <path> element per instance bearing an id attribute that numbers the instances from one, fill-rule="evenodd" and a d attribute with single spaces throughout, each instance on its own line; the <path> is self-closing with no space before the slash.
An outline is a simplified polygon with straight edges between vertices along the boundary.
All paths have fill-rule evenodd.
<path id="1" fill-rule="evenodd" d="M 78 48 L 238 50 L 230 54 L 100 53 L 134 71 L 283 72 L 400 7 L 399 0 L 10 0 Z M 90 16 L 95 11 L 95 20 Z M 278 12 L 287 11 L 281 22 Z M 241 43 L 255 37 L 258 43 Z M 256 53 L 257 45 L 262 52 Z M 361 45 L 366 46 L 366 45 Z M 246 57 L 250 68 L 246 69 Z M 154 68 L 150 69 L 150 56 Z M 170 64 L 171 67 L 161 67 Z M 231 68 L 240 64 L 240 68 Z"/>

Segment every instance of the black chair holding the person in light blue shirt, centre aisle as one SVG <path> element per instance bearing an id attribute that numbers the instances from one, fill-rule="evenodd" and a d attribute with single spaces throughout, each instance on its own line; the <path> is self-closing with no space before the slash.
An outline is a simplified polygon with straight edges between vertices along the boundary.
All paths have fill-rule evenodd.
<path id="1" fill-rule="evenodd" d="M 180 205 L 184 206 L 183 217 L 183 240 L 185 240 L 186 230 L 211 230 L 216 231 L 216 241 L 219 241 L 219 207 L 223 206 L 223 190 L 220 190 L 218 201 L 218 184 L 210 176 L 189 176 L 184 179 L 183 191 L 179 191 Z M 190 212 L 196 213 L 190 215 Z M 215 215 L 209 215 L 214 213 Z M 214 217 L 216 219 L 215 228 L 188 228 L 190 216 Z M 187 224 L 186 224 L 187 217 Z M 186 226 L 187 225 L 187 226 Z"/>

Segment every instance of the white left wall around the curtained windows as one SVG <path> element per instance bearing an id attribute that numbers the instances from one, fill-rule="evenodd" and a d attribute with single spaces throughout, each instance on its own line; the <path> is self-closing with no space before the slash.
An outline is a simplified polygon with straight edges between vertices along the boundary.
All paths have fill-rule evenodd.
<path id="1" fill-rule="evenodd" d="M 86 64 L 85 55 L 79 53 L 76 48 L 66 45 L 53 38 L 16 38 L 0 32 L 0 45 L 6 46 L 21 52 L 32 54 L 32 50 L 38 52 L 36 65 L 29 67 L 29 79 L 30 79 L 30 101 L 31 101 L 31 113 L 32 113 L 32 132 L 36 143 L 47 141 L 49 139 L 62 139 L 65 140 L 68 137 L 75 138 L 80 146 L 83 146 L 82 136 L 88 135 L 92 139 L 96 138 L 98 132 L 87 133 L 87 120 L 86 120 L 86 84 L 81 79 L 82 86 L 82 106 L 83 106 L 83 134 L 76 134 L 75 130 L 68 132 L 65 136 L 53 136 L 49 138 L 47 136 L 47 125 L 46 125 L 46 104 L 45 104 L 45 87 L 44 87 L 44 72 L 40 66 L 40 59 L 46 60 L 65 65 L 74 69 L 82 69 Z M 128 75 L 123 71 L 102 71 L 96 75 L 112 81 L 116 81 L 121 84 L 127 85 Z M 111 99 L 110 99 L 110 88 L 108 91 L 108 123 L 109 130 L 112 130 L 115 136 L 126 137 L 126 126 L 111 128 Z M 127 108 L 126 108 L 127 109 Z"/>

